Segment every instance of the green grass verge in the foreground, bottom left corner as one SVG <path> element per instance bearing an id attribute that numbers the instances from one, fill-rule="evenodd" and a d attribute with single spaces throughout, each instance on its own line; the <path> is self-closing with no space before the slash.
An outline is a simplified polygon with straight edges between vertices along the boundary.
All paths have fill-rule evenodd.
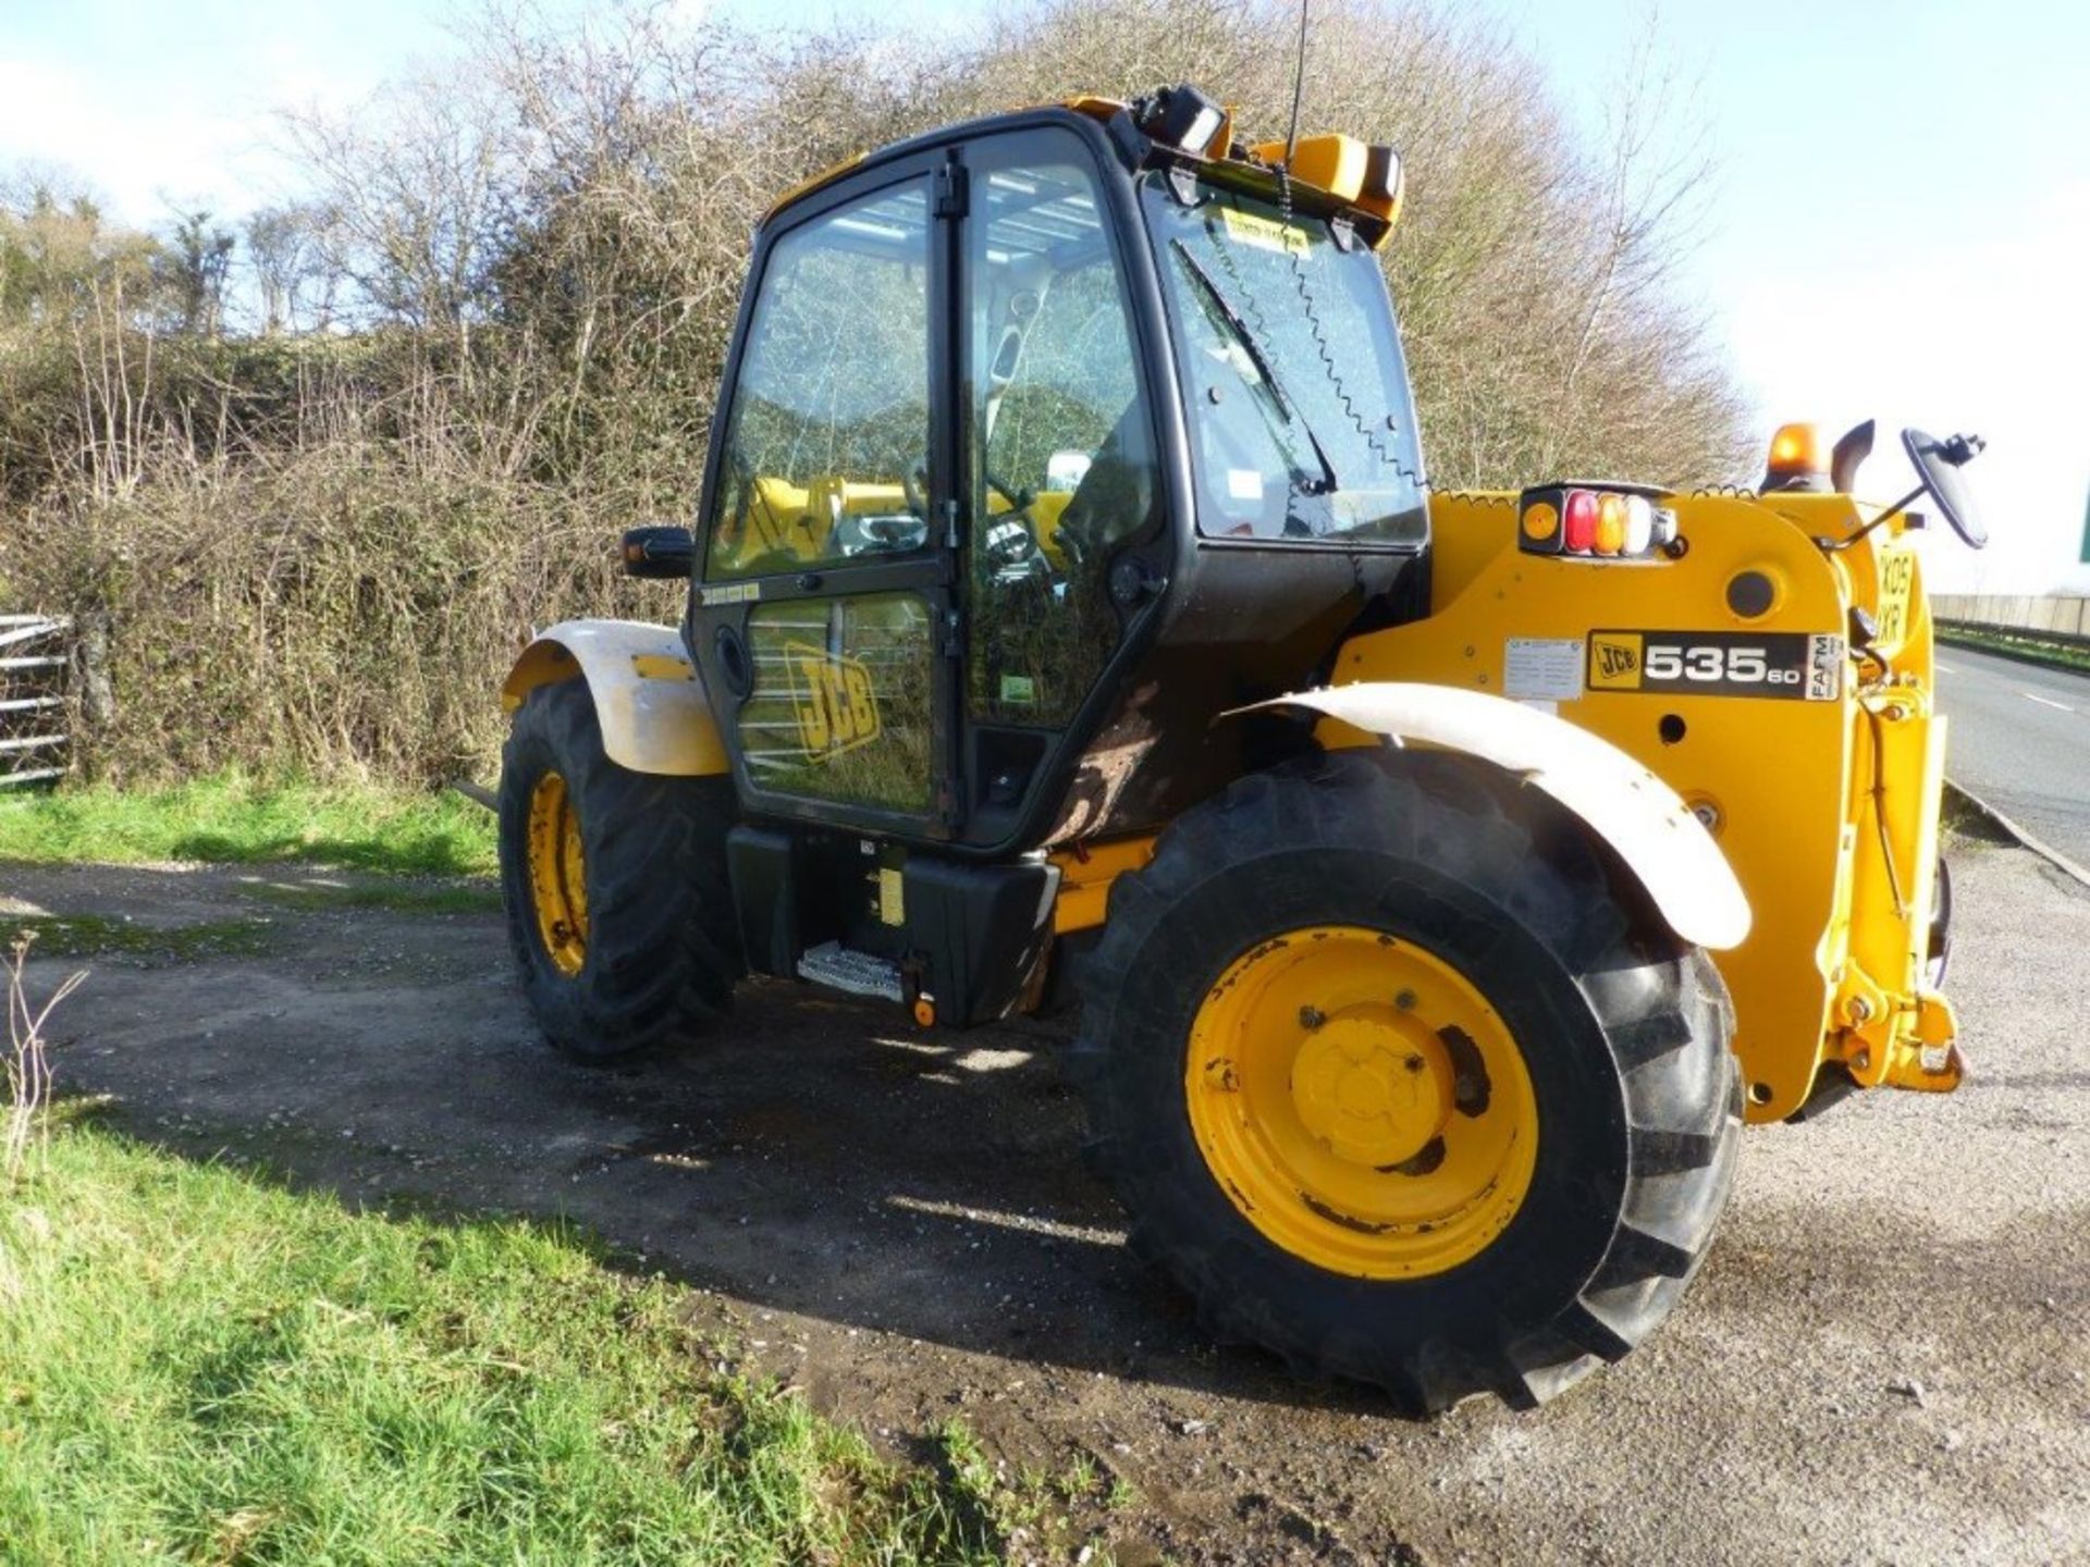
<path id="1" fill-rule="evenodd" d="M 92 1124 L 0 1193 L 4 1563 L 982 1561 L 966 1469 L 715 1371 L 673 1287 L 575 1235 L 349 1214 Z"/>

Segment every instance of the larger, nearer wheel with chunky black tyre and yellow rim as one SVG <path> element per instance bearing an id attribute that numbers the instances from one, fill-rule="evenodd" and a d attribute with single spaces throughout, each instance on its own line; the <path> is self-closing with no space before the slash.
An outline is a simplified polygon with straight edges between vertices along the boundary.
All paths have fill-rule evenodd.
<path id="1" fill-rule="evenodd" d="M 1221 1339 L 1432 1414 L 1676 1306 L 1741 1130 L 1731 1007 L 1578 821 L 1331 754 L 1183 815 L 1078 976 L 1091 1153 Z"/>

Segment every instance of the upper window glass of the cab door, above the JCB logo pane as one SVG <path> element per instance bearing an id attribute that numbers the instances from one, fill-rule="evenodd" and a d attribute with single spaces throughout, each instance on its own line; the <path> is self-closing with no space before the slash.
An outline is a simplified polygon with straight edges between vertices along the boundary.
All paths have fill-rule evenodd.
<path id="1" fill-rule="evenodd" d="M 780 238 L 734 387 L 704 577 L 928 543 L 928 186 Z"/>

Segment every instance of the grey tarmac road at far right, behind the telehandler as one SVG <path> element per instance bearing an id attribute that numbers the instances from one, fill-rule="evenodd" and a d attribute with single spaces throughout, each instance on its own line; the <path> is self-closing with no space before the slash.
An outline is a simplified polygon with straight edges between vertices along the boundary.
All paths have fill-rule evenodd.
<path id="1" fill-rule="evenodd" d="M 2090 675 L 1937 648 L 1946 777 L 2090 865 Z"/>

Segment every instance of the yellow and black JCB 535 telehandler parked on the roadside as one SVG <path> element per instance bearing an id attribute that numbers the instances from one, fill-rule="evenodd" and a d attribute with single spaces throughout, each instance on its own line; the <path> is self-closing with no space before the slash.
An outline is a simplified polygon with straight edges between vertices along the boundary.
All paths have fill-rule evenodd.
<path id="1" fill-rule="evenodd" d="M 1526 1406 L 1676 1304 L 1743 1120 L 1958 1082 L 1944 721 L 1868 428 L 1749 495 L 1432 493 L 1398 209 L 1386 148 L 1191 88 L 786 196 L 696 527 L 625 541 L 681 625 L 508 677 L 504 888 L 589 1059 L 746 972 L 1078 999 L 1097 1162 L 1214 1333 Z M 1963 531 L 1973 449 L 1910 435 Z"/>

